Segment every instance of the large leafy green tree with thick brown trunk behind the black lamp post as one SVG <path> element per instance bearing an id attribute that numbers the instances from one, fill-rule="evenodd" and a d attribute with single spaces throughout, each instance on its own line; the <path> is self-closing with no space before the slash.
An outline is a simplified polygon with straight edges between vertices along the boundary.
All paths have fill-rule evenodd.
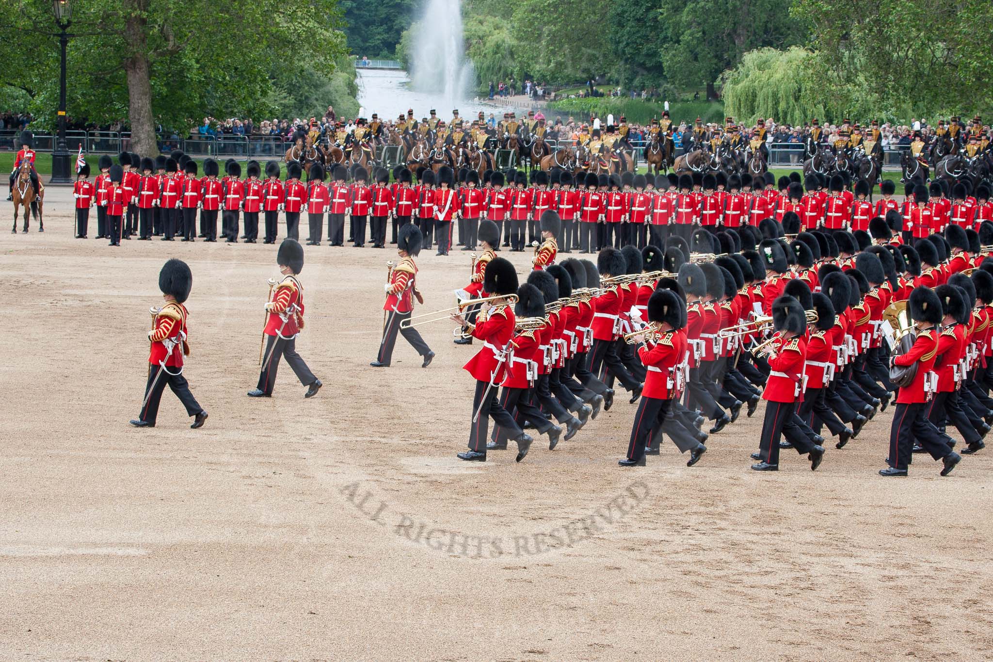
<path id="1" fill-rule="evenodd" d="M 4 82 L 34 90 L 33 107 L 52 120 L 58 57 L 51 3 L 0 0 Z M 156 122 L 189 126 L 205 113 L 268 109 L 277 63 L 325 75 L 345 53 L 335 0 L 91 0 L 74 8 L 69 114 L 125 120 L 135 151 L 156 151 Z M 297 57 L 288 57 L 289 55 Z M 305 55 L 304 55 L 305 54 Z M 54 122 L 52 122 L 54 123 Z"/>

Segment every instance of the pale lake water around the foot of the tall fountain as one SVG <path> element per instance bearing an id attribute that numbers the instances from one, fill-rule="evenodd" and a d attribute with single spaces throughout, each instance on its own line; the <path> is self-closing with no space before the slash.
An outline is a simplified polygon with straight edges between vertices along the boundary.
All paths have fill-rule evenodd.
<path id="1" fill-rule="evenodd" d="M 444 107 L 442 95 L 432 95 L 418 92 L 410 88 L 410 78 L 406 71 L 395 69 L 358 69 L 358 103 L 362 106 L 365 117 L 378 113 L 380 118 L 395 119 L 397 115 L 406 115 L 407 108 L 413 108 L 414 117 L 418 120 L 427 117 L 432 108 L 438 111 L 438 117 L 446 122 L 452 118 L 452 108 Z M 466 99 L 458 104 L 459 115 L 473 119 L 482 110 L 489 117 L 494 113 L 500 119 L 506 106 L 489 103 L 486 98 Z"/>

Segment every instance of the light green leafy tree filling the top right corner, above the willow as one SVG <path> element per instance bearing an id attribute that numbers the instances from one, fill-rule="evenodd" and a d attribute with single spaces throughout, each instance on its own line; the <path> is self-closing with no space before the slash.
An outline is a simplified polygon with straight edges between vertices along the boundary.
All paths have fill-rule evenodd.
<path id="1" fill-rule="evenodd" d="M 797 0 L 792 13 L 826 66 L 862 76 L 887 105 L 919 113 L 993 105 L 989 34 L 970 27 L 993 22 L 988 0 Z"/>

